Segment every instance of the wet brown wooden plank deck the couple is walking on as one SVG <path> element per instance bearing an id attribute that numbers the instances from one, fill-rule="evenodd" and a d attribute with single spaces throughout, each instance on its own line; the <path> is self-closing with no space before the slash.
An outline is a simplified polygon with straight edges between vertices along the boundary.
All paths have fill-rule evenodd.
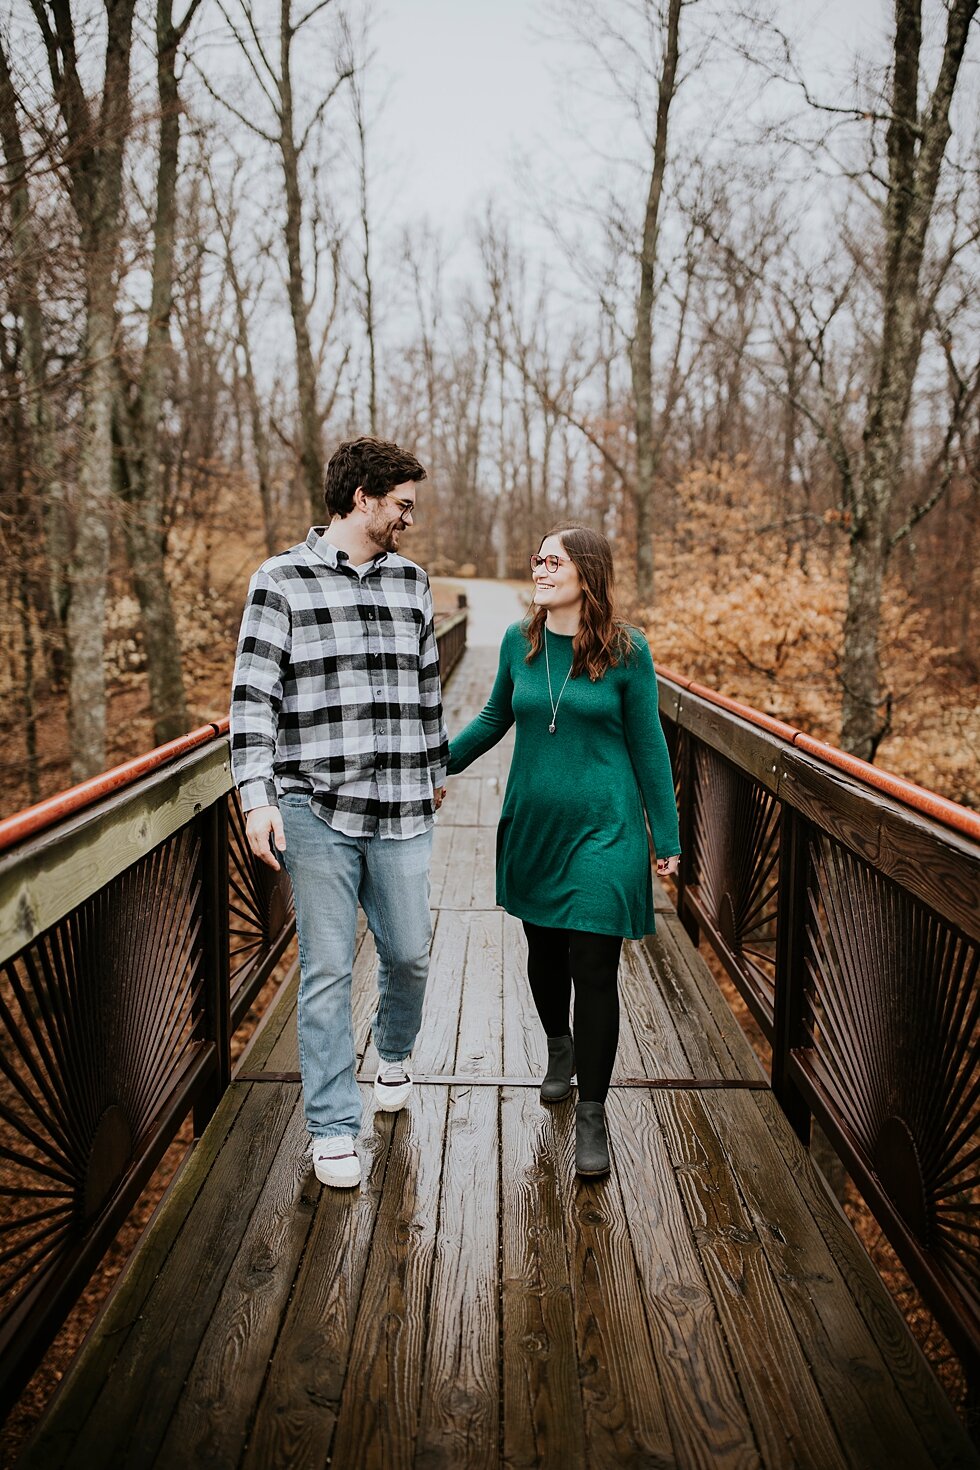
<path id="1" fill-rule="evenodd" d="M 451 729 L 494 664 L 466 656 Z M 361 1189 L 311 1173 L 294 982 L 24 1464 L 980 1464 L 666 900 L 624 954 L 614 1172 L 574 1176 L 573 1105 L 536 1095 L 523 935 L 494 907 L 508 759 L 441 816 L 397 1116 L 372 1107 L 361 936 Z"/>

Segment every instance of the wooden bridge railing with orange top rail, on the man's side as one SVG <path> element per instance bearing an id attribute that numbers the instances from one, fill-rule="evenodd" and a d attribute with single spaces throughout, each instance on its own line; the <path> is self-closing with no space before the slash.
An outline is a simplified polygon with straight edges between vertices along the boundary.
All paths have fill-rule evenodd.
<path id="1" fill-rule="evenodd" d="M 442 675 L 466 613 L 436 629 Z M 0 1416 L 153 1170 L 231 1080 L 292 938 L 228 722 L 0 822 Z"/>

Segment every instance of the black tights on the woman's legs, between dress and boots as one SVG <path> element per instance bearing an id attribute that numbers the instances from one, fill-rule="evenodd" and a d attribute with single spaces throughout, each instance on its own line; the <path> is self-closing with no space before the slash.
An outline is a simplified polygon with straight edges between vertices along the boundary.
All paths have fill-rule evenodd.
<path id="1" fill-rule="evenodd" d="M 620 1030 L 619 973 L 623 941 L 579 929 L 526 923 L 527 979 L 548 1036 L 569 1035 L 574 985 L 574 1061 L 579 1101 L 605 1102 Z"/>

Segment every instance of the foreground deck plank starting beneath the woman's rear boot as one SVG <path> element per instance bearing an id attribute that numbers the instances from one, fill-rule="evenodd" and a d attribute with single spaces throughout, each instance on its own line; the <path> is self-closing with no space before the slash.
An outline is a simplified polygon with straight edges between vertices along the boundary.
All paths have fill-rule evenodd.
<path id="1" fill-rule="evenodd" d="M 502 1094 L 501 1151 L 504 1464 L 583 1470 L 566 1188 L 558 1183 L 567 1151 L 529 1089 Z"/>

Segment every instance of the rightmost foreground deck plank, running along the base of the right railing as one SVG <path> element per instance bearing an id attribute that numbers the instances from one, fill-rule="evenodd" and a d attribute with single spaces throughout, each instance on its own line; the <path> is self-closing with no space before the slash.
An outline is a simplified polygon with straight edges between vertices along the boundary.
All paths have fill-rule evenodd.
<path id="1" fill-rule="evenodd" d="M 851 1464 L 860 1470 L 980 1466 L 887 1288 L 773 1095 L 723 1094 L 711 1113 L 726 1147 L 738 1150 L 742 1195 Z"/>

